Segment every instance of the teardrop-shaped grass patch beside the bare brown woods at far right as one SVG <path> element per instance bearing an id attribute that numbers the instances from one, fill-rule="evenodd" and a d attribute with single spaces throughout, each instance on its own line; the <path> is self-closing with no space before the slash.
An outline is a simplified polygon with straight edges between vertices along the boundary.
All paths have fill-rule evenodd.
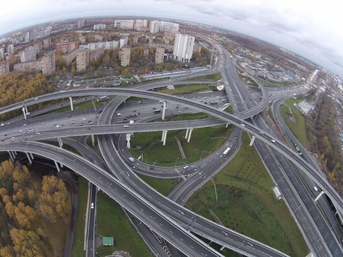
<path id="1" fill-rule="evenodd" d="M 307 136 L 306 136 L 306 120 L 303 114 L 295 107 L 293 106 L 293 103 L 300 102 L 300 99 L 287 99 L 284 104 L 281 105 L 281 115 L 284 119 L 285 123 L 289 127 L 289 129 L 292 131 L 292 133 L 295 135 L 295 137 L 299 140 L 301 145 L 306 147 L 307 144 Z M 292 113 L 289 112 L 289 109 L 291 109 Z M 288 119 L 287 117 L 295 117 L 295 122 Z"/>

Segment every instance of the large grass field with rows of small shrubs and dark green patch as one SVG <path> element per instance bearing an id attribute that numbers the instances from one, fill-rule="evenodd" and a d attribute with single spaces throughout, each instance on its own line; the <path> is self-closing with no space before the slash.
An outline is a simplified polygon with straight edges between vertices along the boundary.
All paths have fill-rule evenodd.
<path id="1" fill-rule="evenodd" d="M 309 249 L 283 201 L 276 200 L 274 186 L 249 137 L 236 157 L 187 201 L 187 206 L 213 220 L 209 206 L 230 229 L 270 245 L 290 256 L 306 256 Z M 248 157 L 248 158 L 247 158 Z M 225 255 L 230 256 L 230 255 Z"/>

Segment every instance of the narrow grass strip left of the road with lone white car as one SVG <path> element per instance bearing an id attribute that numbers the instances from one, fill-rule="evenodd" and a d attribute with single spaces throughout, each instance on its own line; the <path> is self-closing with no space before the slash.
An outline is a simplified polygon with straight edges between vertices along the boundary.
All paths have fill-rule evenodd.
<path id="1" fill-rule="evenodd" d="M 72 256 L 83 257 L 85 252 L 83 250 L 84 232 L 85 232 L 85 219 L 87 209 L 88 197 L 88 183 L 87 180 L 79 176 L 79 192 L 78 192 L 78 217 L 76 218 L 76 229 L 74 235 L 74 243 Z"/>

